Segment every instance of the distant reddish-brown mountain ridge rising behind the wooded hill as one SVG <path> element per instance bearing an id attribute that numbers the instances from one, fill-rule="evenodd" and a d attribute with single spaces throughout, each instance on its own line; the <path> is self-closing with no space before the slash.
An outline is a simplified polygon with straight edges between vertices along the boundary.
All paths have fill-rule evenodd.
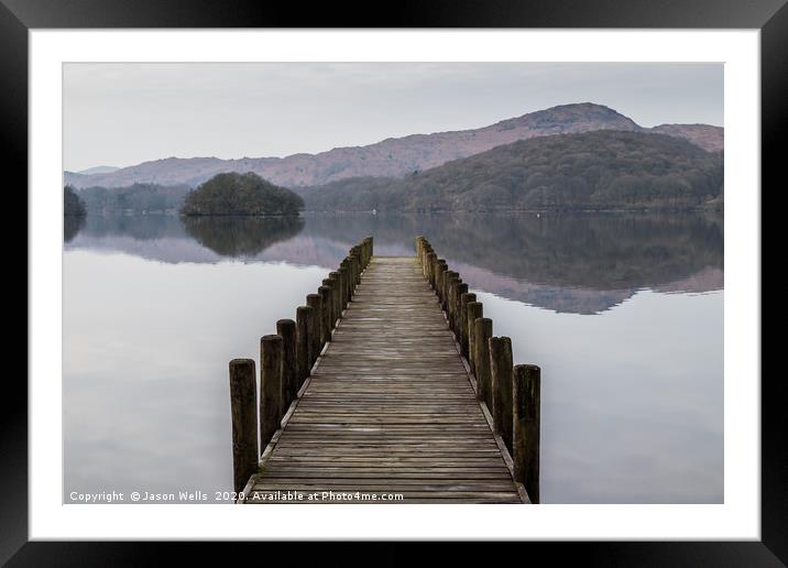
<path id="1" fill-rule="evenodd" d="M 671 125 L 675 132 L 679 132 L 677 129 L 680 127 Z M 694 125 L 686 128 L 691 130 Z M 254 172 L 276 185 L 304 187 L 349 177 L 403 177 L 415 171 L 436 167 L 518 140 L 594 130 L 636 132 L 648 129 L 643 129 L 611 108 L 582 102 L 530 112 L 475 130 L 412 134 L 365 146 L 337 148 L 319 154 L 294 154 L 287 157 L 167 157 L 89 176 L 66 172 L 65 183 L 75 187 L 123 187 L 134 183 L 186 184 L 196 187 L 218 173 Z M 688 138 L 690 130 L 675 135 Z M 721 140 L 722 129 L 719 131 Z M 697 138 L 705 140 L 703 136 Z"/>

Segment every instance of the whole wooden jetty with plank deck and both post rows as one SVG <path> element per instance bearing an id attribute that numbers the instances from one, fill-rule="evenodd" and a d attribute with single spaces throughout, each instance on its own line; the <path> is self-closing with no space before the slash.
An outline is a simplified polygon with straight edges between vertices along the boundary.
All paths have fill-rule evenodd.
<path id="1" fill-rule="evenodd" d="M 538 503 L 539 368 L 416 250 L 353 247 L 261 339 L 259 403 L 255 362 L 230 362 L 238 503 Z"/>

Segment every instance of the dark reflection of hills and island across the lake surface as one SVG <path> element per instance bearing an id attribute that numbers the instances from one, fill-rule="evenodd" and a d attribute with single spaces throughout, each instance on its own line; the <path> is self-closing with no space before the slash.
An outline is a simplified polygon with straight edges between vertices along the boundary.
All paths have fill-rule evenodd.
<path id="1" fill-rule="evenodd" d="M 315 215 L 305 218 L 89 217 L 70 248 L 167 263 L 336 266 L 362 237 L 412 254 L 425 234 L 471 288 L 560 313 L 597 314 L 638 290 L 723 287 L 721 215 Z"/>

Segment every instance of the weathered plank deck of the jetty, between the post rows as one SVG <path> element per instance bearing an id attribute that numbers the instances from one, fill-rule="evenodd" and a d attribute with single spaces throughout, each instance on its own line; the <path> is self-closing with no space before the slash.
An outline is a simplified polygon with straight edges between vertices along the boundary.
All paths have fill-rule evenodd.
<path id="1" fill-rule="evenodd" d="M 373 256 L 272 445 L 245 503 L 522 502 L 416 258 Z"/>

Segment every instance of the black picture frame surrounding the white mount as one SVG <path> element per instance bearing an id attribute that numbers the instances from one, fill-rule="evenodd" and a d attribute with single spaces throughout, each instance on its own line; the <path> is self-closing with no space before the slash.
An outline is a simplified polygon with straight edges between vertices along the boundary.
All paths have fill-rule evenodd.
<path id="1" fill-rule="evenodd" d="M 17 187 L 28 186 L 28 32 L 32 29 L 90 28 L 635 28 L 758 29 L 762 80 L 762 185 L 777 189 L 779 141 L 788 114 L 788 0 L 446 0 L 401 1 L 373 7 L 249 0 L 0 0 L 0 136 L 6 170 Z M 785 183 L 782 184 L 785 185 Z M 755 188 L 753 188 L 754 190 Z M 8 190 L 8 188 L 7 188 Z M 24 193 L 18 192 L 18 198 Z M 763 192 L 762 192 L 763 195 Z M 21 206 L 21 204 L 20 204 Z M 26 210 L 26 199 L 23 206 Z M 7 231 L 8 232 L 8 231 Z M 18 233 L 17 233 L 18 234 Z M 7 237 L 9 238 L 9 237 Z M 763 254 L 762 254 L 763 258 Z M 26 262 L 26 255 L 25 261 Z M 763 274 L 763 273 L 762 273 Z M 763 277 L 763 276 L 762 276 Z M 29 286 L 25 276 L 25 284 Z M 30 302 L 30 296 L 28 296 Z M 26 336 L 25 336 L 26 338 Z M 26 339 L 25 339 L 26 340 Z M 763 349 L 763 348 L 762 348 Z M 29 543 L 28 389 L 9 373 L 0 396 L 0 562 L 8 566 L 143 566 L 173 546 L 186 562 L 205 554 L 205 544 Z M 13 376 L 13 379 L 12 379 Z M 759 380 L 758 376 L 742 378 Z M 501 544 L 501 555 L 552 562 L 569 558 L 600 566 L 785 566 L 788 565 L 788 407 L 782 378 L 767 375 L 762 389 L 762 539 L 686 543 Z M 289 554 L 293 545 L 232 544 L 232 561 L 251 554 L 260 561 Z M 385 545 L 391 547 L 392 545 Z M 517 550 L 511 550 L 513 547 Z M 527 553 L 519 547 L 526 547 Z M 466 547 L 445 547 L 467 557 Z M 305 550 L 298 547 L 299 550 Z M 330 554 L 330 553 L 329 553 Z M 376 555 L 388 564 L 401 550 Z M 407 553 L 405 553 L 407 554 Z M 523 555 L 523 556 L 521 556 Z M 526 556 L 527 555 L 527 556 Z M 344 557 L 344 554 L 342 555 Z M 338 557 L 341 564 L 351 561 Z M 326 556 L 322 556 L 326 564 Z M 403 557 L 400 557 L 402 560 Z M 387 562 L 386 562 L 387 559 Z M 503 559 L 503 558 L 502 558 Z M 361 559 L 363 561 L 363 559 Z M 447 558 L 448 561 L 448 558 Z M 297 562 L 296 562 L 297 564 Z"/>

